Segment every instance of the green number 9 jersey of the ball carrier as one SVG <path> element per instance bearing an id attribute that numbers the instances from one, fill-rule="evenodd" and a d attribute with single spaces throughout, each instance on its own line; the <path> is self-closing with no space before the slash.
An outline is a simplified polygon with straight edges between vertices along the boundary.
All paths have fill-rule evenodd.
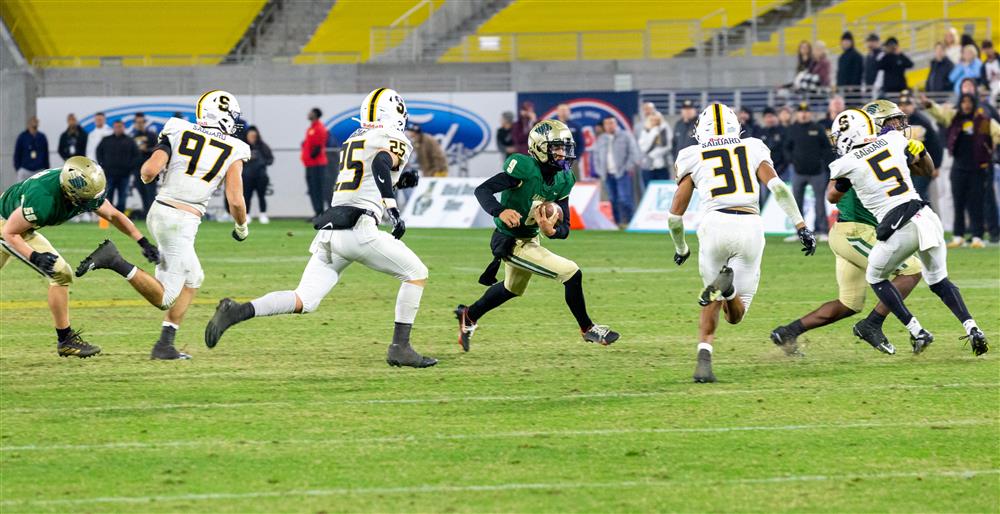
<path id="1" fill-rule="evenodd" d="M 514 189 L 500 193 L 500 204 L 504 209 L 513 209 L 521 215 L 521 224 L 510 228 L 500 218 L 493 218 L 497 230 L 508 236 L 529 238 L 538 235 L 538 223 L 531 215 L 531 208 L 542 202 L 555 202 L 569 196 L 576 177 L 571 171 L 556 173 L 552 183 L 542 178 L 542 169 L 534 158 L 524 154 L 513 154 L 503 164 L 504 171 L 521 181 Z M 563 213 L 569 216 L 568 212 Z"/>

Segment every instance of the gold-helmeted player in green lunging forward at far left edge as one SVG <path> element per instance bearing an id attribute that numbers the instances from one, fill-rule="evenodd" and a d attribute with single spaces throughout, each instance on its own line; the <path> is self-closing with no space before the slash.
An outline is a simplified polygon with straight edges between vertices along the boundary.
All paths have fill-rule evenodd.
<path id="1" fill-rule="evenodd" d="M 18 182 L 0 195 L 0 268 L 16 257 L 49 280 L 49 310 L 62 357 L 86 358 L 101 352 L 69 324 L 69 285 L 73 270 L 38 229 L 94 212 L 131 237 L 150 262 L 160 254 L 135 225 L 105 200 L 104 170 L 86 157 L 70 157 L 53 168 Z"/>

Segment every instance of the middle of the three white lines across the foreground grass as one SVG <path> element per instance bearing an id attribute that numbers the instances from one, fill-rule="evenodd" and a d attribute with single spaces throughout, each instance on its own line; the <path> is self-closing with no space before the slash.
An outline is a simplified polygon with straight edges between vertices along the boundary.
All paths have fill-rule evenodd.
<path id="1" fill-rule="evenodd" d="M 480 439 L 518 439 L 532 437 L 586 437 L 595 435 L 627 435 L 627 434 L 725 434 L 732 432 L 791 432 L 803 430 L 850 430 L 868 428 L 943 428 L 1000 424 L 1000 420 L 956 419 L 937 421 L 909 421 L 893 423 L 841 423 L 816 425 L 779 425 L 779 426 L 743 426 L 743 427 L 691 427 L 691 428 L 601 428 L 591 430 L 532 430 L 515 432 L 496 432 L 482 434 L 436 434 L 428 436 L 383 436 L 383 437 L 340 437 L 329 439 L 285 439 L 285 440 L 229 440 L 204 439 L 189 441 L 161 441 L 144 443 L 138 441 L 105 443 L 105 444 L 56 444 L 56 445 L 25 445 L 4 446 L 0 452 L 15 451 L 90 451 L 90 450 L 136 450 L 160 448 L 194 448 L 209 446 L 245 447 L 268 446 L 276 448 L 281 445 L 293 446 L 332 446 L 339 444 L 384 444 L 421 441 L 468 441 Z"/>

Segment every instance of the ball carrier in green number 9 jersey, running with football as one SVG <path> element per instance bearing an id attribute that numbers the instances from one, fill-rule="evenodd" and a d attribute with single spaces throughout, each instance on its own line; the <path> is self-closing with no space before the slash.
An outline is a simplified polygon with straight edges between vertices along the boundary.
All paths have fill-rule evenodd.
<path id="1" fill-rule="evenodd" d="M 490 177 L 476 188 L 476 199 L 493 216 L 496 231 L 490 241 L 494 260 L 479 278 L 490 286 L 470 306 L 459 305 L 458 341 L 469 351 L 476 323 L 487 312 L 511 298 L 521 296 L 532 275 L 556 279 L 566 288 L 566 304 L 580 326 L 583 339 L 609 345 L 619 334 L 607 325 L 593 323 L 587 315 L 583 297 L 583 274 L 575 262 L 560 257 L 541 245 L 539 232 L 549 239 L 569 236 L 569 193 L 576 179 L 570 166 L 576 159 L 573 135 L 558 120 L 545 120 L 531 128 L 528 152 L 514 154 L 504 162 L 504 171 Z M 495 195 L 500 193 L 500 201 Z M 542 212 L 539 207 L 555 202 L 559 210 Z M 500 263 L 504 280 L 497 282 Z"/>

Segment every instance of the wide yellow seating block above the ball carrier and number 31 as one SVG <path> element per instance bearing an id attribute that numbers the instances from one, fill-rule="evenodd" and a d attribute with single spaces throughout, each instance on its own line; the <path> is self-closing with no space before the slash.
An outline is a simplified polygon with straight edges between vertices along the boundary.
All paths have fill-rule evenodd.
<path id="1" fill-rule="evenodd" d="M 758 0 L 756 11 L 787 1 Z M 440 62 L 669 58 L 704 42 L 713 29 L 746 21 L 753 9 L 744 0 L 636 4 L 515 0 Z"/>

